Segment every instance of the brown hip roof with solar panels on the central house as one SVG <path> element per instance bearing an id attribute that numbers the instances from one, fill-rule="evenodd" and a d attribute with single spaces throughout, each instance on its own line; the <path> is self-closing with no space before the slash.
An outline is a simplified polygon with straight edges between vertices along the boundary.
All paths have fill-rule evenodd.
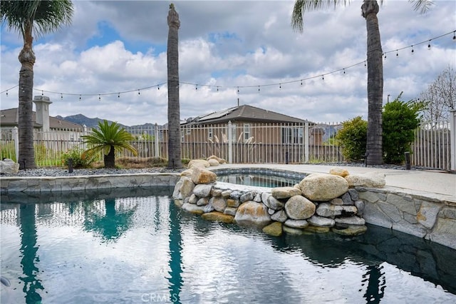
<path id="1" fill-rule="evenodd" d="M 306 123 L 308 121 L 287 116 L 281 113 L 264 110 L 254 106 L 235 106 L 226 108 L 222 111 L 210 113 L 195 118 L 189 118 L 183 125 L 202 124 L 202 123 L 227 123 L 228 121 L 252 121 L 267 123 Z"/>

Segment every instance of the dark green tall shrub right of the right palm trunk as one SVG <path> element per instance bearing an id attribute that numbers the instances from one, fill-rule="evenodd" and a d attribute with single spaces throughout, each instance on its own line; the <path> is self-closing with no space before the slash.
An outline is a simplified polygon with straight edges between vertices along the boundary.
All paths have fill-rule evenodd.
<path id="1" fill-rule="evenodd" d="M 414 101 L 400 101 L 400 95 L 394 101 L 383 106 L 383 161 L 385 163 L 403 163 L 405 152 L 410 152 L 410 144 L 415 140 L 415 128 L 420 120 L 420 104 Z"/>

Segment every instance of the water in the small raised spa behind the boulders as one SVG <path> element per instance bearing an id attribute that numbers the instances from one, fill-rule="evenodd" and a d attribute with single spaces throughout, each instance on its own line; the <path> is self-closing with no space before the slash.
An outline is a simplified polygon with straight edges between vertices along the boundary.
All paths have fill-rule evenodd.
<path id="1" fill-rule="evenodd" d="M 257 173 L 238 173 L 229 175 L 217 175 L 217 181 L 224 183 L 235 183 L 237 185 L 257 186 L 257 187 L 293 187 L 302 178 L 289 178 L 284 176 L 274 176 L 269 174 Z"/>

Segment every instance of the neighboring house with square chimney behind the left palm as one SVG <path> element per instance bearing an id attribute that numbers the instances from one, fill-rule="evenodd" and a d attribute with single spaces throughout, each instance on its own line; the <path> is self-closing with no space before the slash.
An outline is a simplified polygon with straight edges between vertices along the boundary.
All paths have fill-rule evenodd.
<path id="1" fill-rule="evenodd" d="M 35 96 L 33 103 L 36 107 L 32 114 L 34 140 L 80 141 L 83 126 L 49 116 L 49 106 L 52 102 L 48 97 Z M 0 139 L 12 139 L 12 130 L 18 126 L 18 121 L 18 108 L 0 110 Z"/>

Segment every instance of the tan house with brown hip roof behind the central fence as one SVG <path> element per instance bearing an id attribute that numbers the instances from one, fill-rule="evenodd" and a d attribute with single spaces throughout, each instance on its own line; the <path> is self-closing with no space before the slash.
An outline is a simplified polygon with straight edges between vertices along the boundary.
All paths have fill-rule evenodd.
<path id="1" fill-rule="evenodd" d="M 181 123 L 182 143 L 227 143 L 231 125 L 232 142 L 263 144 L 303 144 L 305 126 L 310 127 L 309 138 L 321 144 L 324 130 L 312 128 L 315 123 L 254 106 L 235 106 Z"/>

